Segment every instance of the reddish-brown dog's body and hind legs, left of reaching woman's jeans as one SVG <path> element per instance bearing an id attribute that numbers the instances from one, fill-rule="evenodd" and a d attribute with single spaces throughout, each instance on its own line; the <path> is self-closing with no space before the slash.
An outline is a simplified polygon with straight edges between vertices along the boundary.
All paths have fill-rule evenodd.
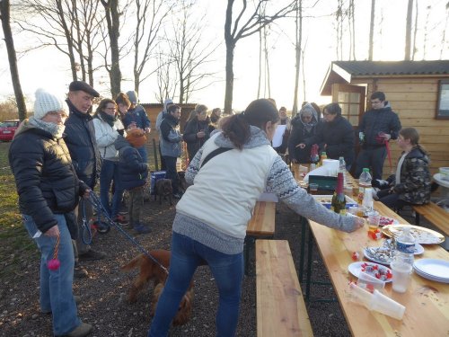
<path id="1" fill-rule="evenodd" d="M 149 252 L 154 259 L 161 263 L 163 267 L 167 268 L 170 265 L 170 251 L 163 249 Z M 134 279 L 131 289 L 129 290 L 129 302 L 136 302 L 137 294 L 142 291 L 145 286 L 151 281 L 154 281 L 154 287 L 158 283 L 165 283 L 168 274 L 153 260 L 151 260 L 145 254 L 137 255 L 128 264 L 121 267 L 122 270 L 133 270 L 140 268 L 140 273 Z"/>

